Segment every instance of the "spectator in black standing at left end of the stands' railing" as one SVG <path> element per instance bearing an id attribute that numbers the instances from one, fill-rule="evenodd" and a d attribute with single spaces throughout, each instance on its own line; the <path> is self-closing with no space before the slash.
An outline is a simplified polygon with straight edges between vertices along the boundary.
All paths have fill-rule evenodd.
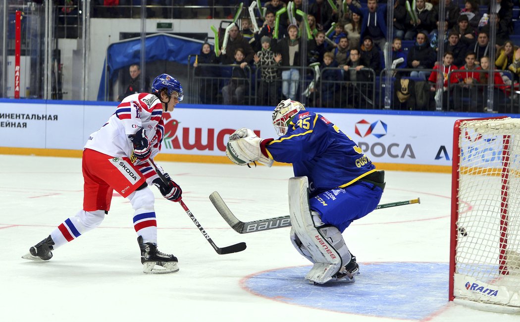
<path id="1" fill-rule="evenodd" d="M 218 79 L 220 69 L 217 66 L 199 66 L 199 64 L 218 64 L 215 51 L 211 49 L 209 43 L 204 43 L 200 54 L 193 63 L 195 75 L 200 78 L 200 100 L 202 104 L 217 104 Z"/>

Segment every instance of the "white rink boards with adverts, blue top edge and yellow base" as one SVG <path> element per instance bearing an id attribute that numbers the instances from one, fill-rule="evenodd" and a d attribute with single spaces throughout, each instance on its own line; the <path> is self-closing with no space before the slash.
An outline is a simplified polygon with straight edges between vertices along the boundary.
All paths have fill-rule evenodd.
<path id="1" fill-rule="evenodd" d="M 80 157 L 85 140 L 107 122 L 115 107 L 114 102 L 0 99 L 0 135 L 8 138 L 0 153 Z M 431 172 L 450 171 L 454 121 L 491 116 L 310 110 L 336 124 L 381 168 Z M 159 159 L 228 162 L 224 152 L 227 138 L 237 128 L 249 127 L 263 138 L 276 135 L 271 113 L 271 107 L 179 104 L 174 112 L 164 113 L 165 137 Z"/>

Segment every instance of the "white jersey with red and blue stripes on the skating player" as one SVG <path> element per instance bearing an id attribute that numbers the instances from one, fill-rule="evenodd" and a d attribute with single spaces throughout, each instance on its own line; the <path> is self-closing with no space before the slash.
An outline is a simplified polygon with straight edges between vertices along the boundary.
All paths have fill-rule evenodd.
<path id="1" fill-rule="evenodd" d="M 98 131 L 90 134 L 84 148 L 96 150 L 111 157 L 129 158 L 139 166 L 139 170 L 150 184 L 157 174 L 146 161 L 143 162 L 134 157 L 134 146 L 128 135 L 135 134 L 139 127 L 144 128 L 152 148 L 150 158 L 153 159 L 161 150 L 164 136 L 162 112 L 163 106 L 157 96 L 148 93 L 129 95 L 121 101 L 108 122 Z M 162 171 L 160 166 L 159 169 Z"/>

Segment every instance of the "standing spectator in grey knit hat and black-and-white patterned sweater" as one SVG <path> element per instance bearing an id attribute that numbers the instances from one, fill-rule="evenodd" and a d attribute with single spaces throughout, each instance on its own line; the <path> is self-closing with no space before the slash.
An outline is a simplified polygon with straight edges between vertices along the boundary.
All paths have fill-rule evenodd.
<path id="1" fill-rule="evenodd" d="M 278 94 L 277 88 L 279 86 L 278 67 L 282 60 L 282 55 L 274 53 L 271 50 L 271 38 L 268 36 L 262 37 L 262 50 L 258 51 L 254 56 L 256 68 L 261 69 L 262 80 L 257 93 L 258 105 L 277 104 Z"/>

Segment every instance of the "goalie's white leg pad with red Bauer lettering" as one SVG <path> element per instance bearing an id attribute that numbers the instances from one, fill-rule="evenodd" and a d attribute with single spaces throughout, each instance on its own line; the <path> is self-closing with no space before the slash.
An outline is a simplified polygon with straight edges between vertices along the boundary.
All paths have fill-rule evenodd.
<path id="1" fill-rule="evenodd" d="M 307 258 L 311 257 L 311 262 L 315 263 L 305 279 L 324 284 L 340 269 L 343 271 L 344 265 L 350 261 L 350 252 L 340 231 L 333 226 L 323 226 L 319 213 L 311 213 L 307 188 L 307 177 L 289 179 L 291 232 L 300 240 L 301 246 L 295 246 L 298 252 L 301 251 Z M 308 256 L 303 249 L 308 252 Z"/>

